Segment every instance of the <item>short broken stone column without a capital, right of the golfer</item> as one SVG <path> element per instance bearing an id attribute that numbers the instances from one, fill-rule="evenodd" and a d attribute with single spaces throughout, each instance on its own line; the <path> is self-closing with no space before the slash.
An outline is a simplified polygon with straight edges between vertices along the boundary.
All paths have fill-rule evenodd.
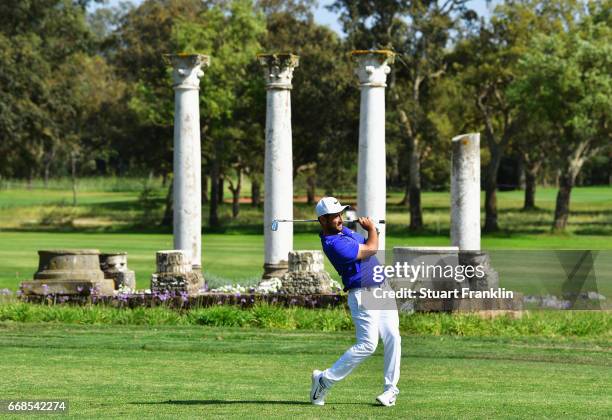
<path id="1" fill-rule="evenodd" d="M 452 140 L 451 243 L 460 251 L 480 250 L 480 133 Z"/>

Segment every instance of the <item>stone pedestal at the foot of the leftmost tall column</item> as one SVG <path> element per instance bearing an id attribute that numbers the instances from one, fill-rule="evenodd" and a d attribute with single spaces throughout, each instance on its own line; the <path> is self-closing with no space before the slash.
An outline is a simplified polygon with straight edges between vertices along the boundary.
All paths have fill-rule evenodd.
<path id="1" fill-rule="evenodd" d="M 158 251 L 156 254 L 157 272 L 151 276 L 151 291 L 187 292 L 197 295 L 204 287 L 204 276 L 194 271 L 191 260 L 181 250 Z"/>

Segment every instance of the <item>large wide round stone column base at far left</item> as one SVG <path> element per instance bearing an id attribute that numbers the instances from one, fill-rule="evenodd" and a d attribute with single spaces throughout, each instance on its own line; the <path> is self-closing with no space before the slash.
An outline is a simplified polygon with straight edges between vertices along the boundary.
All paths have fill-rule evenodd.
<path id="1" fill-rule="evenodd" d="M 113 294 L 114 281 L 104 277 L 97 249 L 42 250 L 38 256 L 34 280 L 20 285 L 24 295 Z"/>

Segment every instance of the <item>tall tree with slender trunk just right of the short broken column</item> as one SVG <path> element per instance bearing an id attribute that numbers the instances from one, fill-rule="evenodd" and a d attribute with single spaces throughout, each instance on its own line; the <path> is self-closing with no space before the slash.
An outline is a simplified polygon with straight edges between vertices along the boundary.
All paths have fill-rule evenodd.
<path id="1" fill-rule="evenodd" d="M 484 171 L 485 232 L 499 229 L 497 176 L 501 159 L 521 126 L 518 104 L 508 97 L 517 64 L 538 33 L 562 29 L 567 15 L 577 12 L 575 0 L 512 0 L 495 8 L 491 21 L 462 38 L 453 66 L 480 116 L 489 159 Z"/>

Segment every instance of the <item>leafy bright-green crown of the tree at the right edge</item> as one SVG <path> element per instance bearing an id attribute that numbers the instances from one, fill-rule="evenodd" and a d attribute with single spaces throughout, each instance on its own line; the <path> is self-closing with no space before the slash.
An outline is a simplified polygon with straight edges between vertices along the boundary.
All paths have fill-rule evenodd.
<path id="1" fill-rule="evenodd" d="M 566 32 L 532 38 L 511 93 L 526 113 L 555 127 L 557 140 L 598 139 L 602 144 L 610 141 L 611 57 L 612 30 L 607 23 L 585 17 Z M 561 145 L 558 150 L 563 159 L 572 146 Z"/>

